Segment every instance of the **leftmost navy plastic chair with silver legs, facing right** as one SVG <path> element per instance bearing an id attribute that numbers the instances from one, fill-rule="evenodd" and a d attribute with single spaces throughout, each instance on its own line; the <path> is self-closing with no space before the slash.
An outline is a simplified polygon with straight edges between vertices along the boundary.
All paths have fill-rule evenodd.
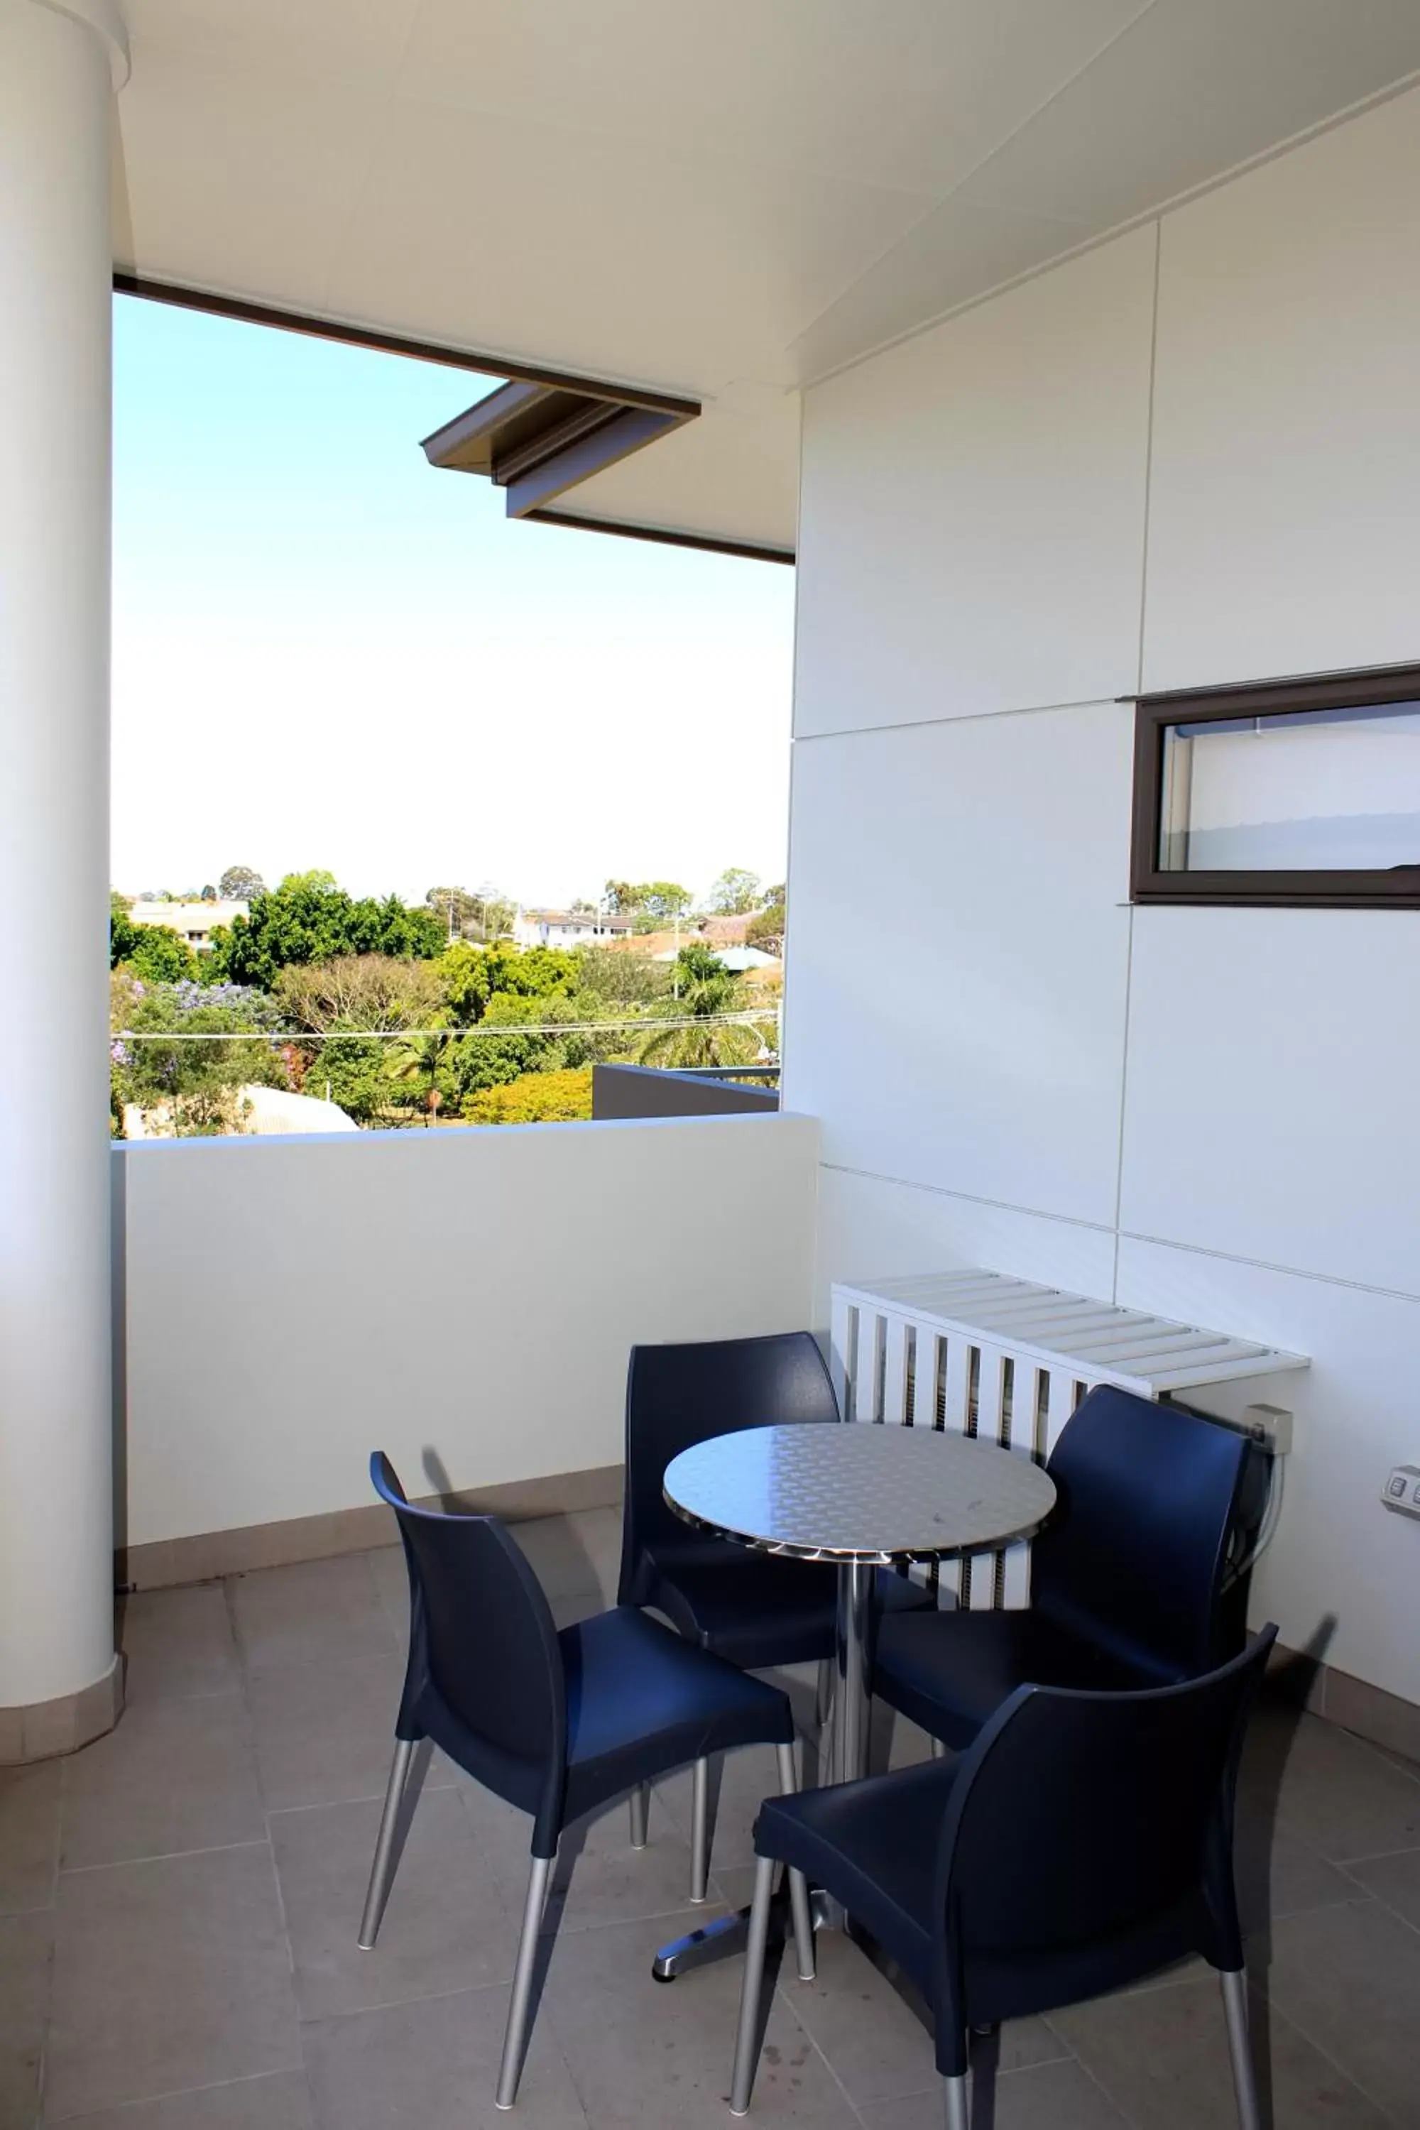
<path id="1" fill-rule="evenodd" d="M 528 2045 L 543 1908 L 562 1830 L 705 1753 L 773 1744 L 786 1791 L 794 1715 L 775 1687 L 690 1649 L 643 1612 L 617 1608 L 554 1625 L 522 1549 L 496 1517 L 413 1508 L 390 1459 L 370 1457 L 375 1491 L 398 1517 L 409 1568 L 409 1664 L 394 1723 L 394 1766 L 375 1845 L 360 1945 L 375 1945 L 428 1738 L 494 1796 L 532 1817 L 532 1868 L 498 2072 L 511 2109 Z M 790 1881 L 794 1928 L 811 1960 L 809 1908 Z"/>

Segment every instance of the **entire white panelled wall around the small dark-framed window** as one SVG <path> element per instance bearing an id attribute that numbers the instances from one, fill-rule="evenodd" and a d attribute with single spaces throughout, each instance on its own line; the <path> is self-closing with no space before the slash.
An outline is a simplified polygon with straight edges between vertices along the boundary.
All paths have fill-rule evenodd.
<path id="1" fill-rule="evenodd" d="M 977 1263 L 1311 1355 L 1256 1617 L 1409 1700 L 1420 916 L 1130 912 L 1111 699 L 1420 660 L 1418 141 L 1411 92 L 809 392 L 786 999 L 818 1321 Z M 852 990 L 826 901 L 881 912 Z"/>

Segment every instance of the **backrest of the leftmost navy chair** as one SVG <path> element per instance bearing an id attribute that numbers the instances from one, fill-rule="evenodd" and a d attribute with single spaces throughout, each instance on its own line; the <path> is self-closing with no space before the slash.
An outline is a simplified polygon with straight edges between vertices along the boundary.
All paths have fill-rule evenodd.
<path id="1" fill-rule="evenodd" d="M 479 1783 L 532 1813 L 551 1855 L 566 1781 L 566 1683 L 547 1598 L 496 1517 L 413 1508 L 383 1451 L 375 1491 L 398 1517 L 409 1568 L 409 1668 L 400 1706 Z M 551 1849 L 539 1847 L 551 1836 Z"/>

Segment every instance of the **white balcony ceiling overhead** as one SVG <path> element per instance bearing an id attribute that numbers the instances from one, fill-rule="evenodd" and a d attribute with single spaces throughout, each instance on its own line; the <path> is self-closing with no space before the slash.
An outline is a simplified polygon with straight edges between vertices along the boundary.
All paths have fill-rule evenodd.
<path id="1" fill-rule="evenodd" d="M 123 13 L 121 268 L 696 396 L 566 507 L 769 547 L 800 383 L 1420 70 L 1420 0 Z"/>

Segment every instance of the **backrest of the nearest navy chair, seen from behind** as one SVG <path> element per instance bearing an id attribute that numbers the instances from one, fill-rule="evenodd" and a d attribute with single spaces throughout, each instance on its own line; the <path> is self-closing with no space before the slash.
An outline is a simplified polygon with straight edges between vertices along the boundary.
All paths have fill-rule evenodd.
<path id="1" fill-rule="evenodd" d="M 1241 1968 L 1233 1787 L 1275 1634 L 1184 1685 L 1018 1687 L 996 1710 L 962 1755 L 937 1857 L 939 2045 L 1190 1947 Z"/>

